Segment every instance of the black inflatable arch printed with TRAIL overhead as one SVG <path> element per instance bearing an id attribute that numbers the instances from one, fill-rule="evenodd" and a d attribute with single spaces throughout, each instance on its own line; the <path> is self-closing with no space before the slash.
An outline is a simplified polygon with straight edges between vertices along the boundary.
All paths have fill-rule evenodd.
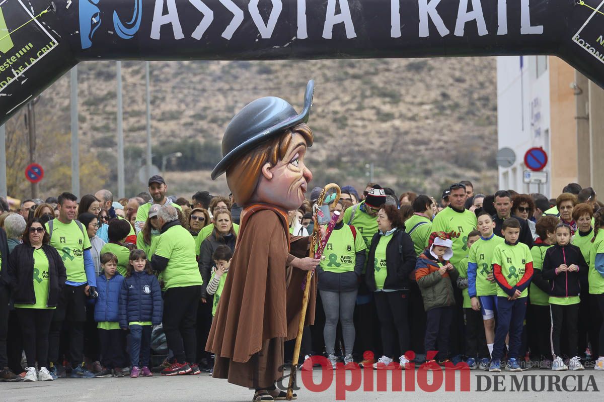
<path id="1" fill-rule="evenodd" d="M 604 0 L 0 0 L 0 124 L 82 60 L 522 54 L 604 87 Z"/>

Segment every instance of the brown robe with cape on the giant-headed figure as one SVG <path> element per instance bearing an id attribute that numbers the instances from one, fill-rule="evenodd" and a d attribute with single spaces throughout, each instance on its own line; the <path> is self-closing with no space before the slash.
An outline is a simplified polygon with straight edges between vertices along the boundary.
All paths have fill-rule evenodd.
<path id="1" fill-rule="evenodd" d="M 292 238 L 292 253 L 306 256 L 308 240 Z M 283 377 L 283 341 L 297 335 L 306 277 L 305 271 L 286 269 L 289 248 L 286 212 L 268 204 L 245 208 L 205 347 L 216 354 L 214 378 L 265 389 Z M 305 325 L 313 324 L 315 297 L 313 275 Z"/>

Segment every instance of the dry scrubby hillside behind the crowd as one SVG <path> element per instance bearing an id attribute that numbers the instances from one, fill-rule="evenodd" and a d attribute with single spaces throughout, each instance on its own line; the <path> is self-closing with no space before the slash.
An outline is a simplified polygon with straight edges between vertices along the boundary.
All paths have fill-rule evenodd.
<path id="1" fill-rule="evenodd" d="M 78 72 L 80 160 L 104 166 L 82 180 L 82 193 L 115 190 L 115 62 L 82 63 Z M 146 141 L 144 63 L 125 61 L 122 72 L 126 186 L 132 194 L 145 187 L 138 180 Z M 281 96 L 299 111 L 310 78 L 316 82 L 309 122 L 316 142 L 307 165 L 315 185 L 335 181 L 361 189 L 369 178 L 365 166 L 374 163 L 374 181 L 399 193 L 439 195 L 446 183 L 461 179 L 477 182 L 480 190 L 495 188 L 494 58 L 157 61 L 151 63 L 154 163 L 161 168 L 161 155 L 184 154 L 167 161 L 170 193 L 228 192 L 223 178 L 213 182 L 209 175 L 226 124 L 265 95 Z M 42 94 L 36 116 L 43 119 L 37 149 L 57 152 L 63 168 L 70 166 L 68 142 L 43 143 L 69 138 L 68 75 Z M 19 131 L 13 135 L 25 134 Z M 53 184 L 42 183 L 42 192 L 54 190 Z M 28 188 L 15 191 L 23 196 L 19 192 Z"/>

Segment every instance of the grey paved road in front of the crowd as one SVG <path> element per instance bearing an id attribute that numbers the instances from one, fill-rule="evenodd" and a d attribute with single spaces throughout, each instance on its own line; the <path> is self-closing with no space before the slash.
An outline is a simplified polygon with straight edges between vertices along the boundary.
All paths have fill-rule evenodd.
<path id="1" fill-rule="evenodd" d="M 376 372 L 370 372 L 376 375 Z M 413 378 L 417 380 L 419 371 L 414 372 Z M 300 373 L 298 373 L 300 374 Z M 308 402 L 326 402 L 336 400 L 336 377 L 332 375 L 333 382 L 323 392 L 312 392 L 303 387 L 298 391 L 300 401 Z M 357 374 L 359 381 L 362 374 Z M 403 390 L 405 390 L 405 380 L 403 374 Z M 393 398 L 413 397 L 415 400 L 432 401 L 434 397 L 438 398 L 439 402 L 484 402 L 486 398 L 501 398 L 501 392 L 495 392 L 495 382 L 498 383 L 498 391 L 506 392 L 512 390 L 517 391 L 518 388 L 524 389 L 526 392 L 520 394 L 505 394 L 508 397 L 516 395 L 523 400 L 541 400 L 544 394 L 538 394 L 539 388 L 544 383 L 545 391 L 551 388 L 552 391 L 557 391 L 557 385 L 561 391 L 557 392 L 554 400 L 562 400 L 568 397 L 589 398 L 588 400 L 602 400 L 604 392 L 604 371 L 586 370 L 583 372 L 551 372 L 544 370 L 529 370 L 521 373 L 501 372 L 501 375 L 494 377 L 493 374 L 487 372 L 472 371 L 469 378 L 470 391 L 460 392 L 460 374 L 457 373 L 455 392 L 446 392 L 443 385 L 435 392 L 425 392 L 420 389 L 420 383 L 416 382 L 416 391 L 411 392 L 393 392 L 392 378 L 388 375 L 387 392 L 345 392 L 345 400 L 347 401 L 387 401 Z M 557 375 L 557 377 L 555 377 Z M 420 374 L 421 377 L 421 374 Z M 567 377 L 566 379 L 564 379 Z M 316 384 L 321 383 L 321 371 L 315 369 L 312 373 L 313 381 Z M 327 377 L 326 377 L 327 378 Z M 339 377 L 343 382 L 344 377 Z M 353 374 L 350 371 L 346 372 L 346 382 L 352 383 Z M 376 377 L 373 377 L 374 384 Z M 432 373 L 428 371 L 427 378 L 429 382 L 432 380 Z M 299 377 L 299 380 L 301 378 Z M 310 377 L 304 379 L 304 384 L 308 384 Z M 487 389 L 487 383 L 490 380 L 490 388 L 487 391 L 477 392 L 480 386 L 482 390 Z M 533 385 L 534 383 L 534 385 Z M 550 385 L 551 383 L 551 385 Z M 563 384 L 564 383 L 564 384 Z M 532 391 L 533 387 L 535 391 Z M 573 388 L 581 388 L 583 390 L 593 391 L 589 393 L 582 392 L 576 394 L 572 391 Z M 304 389 L 306 388 L 306 389 Z M 338 387 L 342 389 L 342 387 Z M 376 385 L 374 385 L 376 389 Z M 425 389 L 425 387 L 424 387 Z M 565 392 L 564 389 L 567 389 Z M 597 392 L 594 392 L 596 391 Z M 547 394 L 547 398 L 551 399 L 553 394 Z M 239 386 L 234 386 L 226 382 L 226 380 L 217 380 L 211 378 L 207 374 L 196 376 L 179 376 L 179 377 L 153 377 L 153 378 L 138 378 L 133 380 L 130 378 L 95 378 L 91 380 L 71 380 L 60 379 L 55 382 L 35 382 L 35 383 L 0 383 L 0 401 L 216 401 L 216 402 L 249 402 L 252 392 L 248 389 L 243 389 Z"/>

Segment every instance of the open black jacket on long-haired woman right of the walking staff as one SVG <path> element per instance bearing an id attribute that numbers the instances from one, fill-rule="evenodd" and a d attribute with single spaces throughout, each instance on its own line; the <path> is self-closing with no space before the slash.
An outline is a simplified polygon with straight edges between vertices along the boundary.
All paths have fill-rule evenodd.
<path id="1" fill-rule="evenodd" d="M 386 247 L 386 280 L 384 289 L 406 290 L 409 289 L 409 275 L 416 266 L 416 254 L 413 247 L 413 240 L 405 230 L 396 230 L 392 234 L 393 238 Z M 371 292 L 376 291 L 375 280 L 375 256 L 377 243 L 382 237 L 376 233 L 371 239 L 369 256 L 367 262 L 367 272 L 365 274 L 365 283 Z"/>

